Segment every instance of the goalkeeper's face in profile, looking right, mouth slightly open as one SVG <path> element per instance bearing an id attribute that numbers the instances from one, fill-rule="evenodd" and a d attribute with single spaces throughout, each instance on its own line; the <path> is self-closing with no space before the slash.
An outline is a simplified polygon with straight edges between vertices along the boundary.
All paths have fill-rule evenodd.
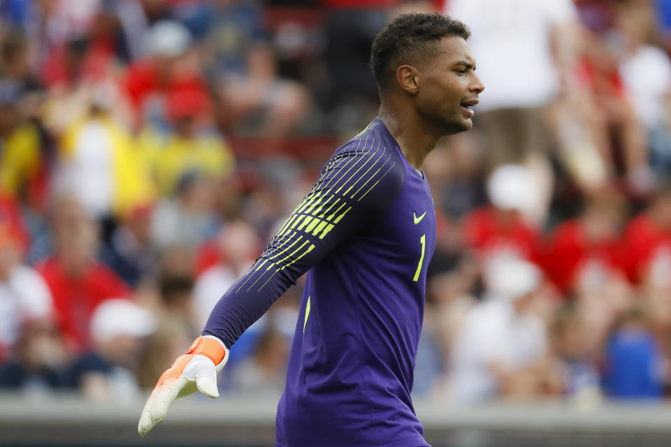
<path id="1" fill-rule="evenodd" d="M 416 103 L 419 114 L 445 135 L 473 126 L 472 106 L 484 85 L 475 75 L 475 59 L 463 38 L 442 39 L 435 57 L 417 67 Z"/>

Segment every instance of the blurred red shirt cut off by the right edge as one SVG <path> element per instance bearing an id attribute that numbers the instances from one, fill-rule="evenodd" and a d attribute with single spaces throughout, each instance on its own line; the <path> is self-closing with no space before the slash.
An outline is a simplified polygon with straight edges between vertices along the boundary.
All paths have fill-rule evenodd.
<path id="1" fill-rule="evenodd" d="M 630 281 L 641 284 L 651 279 L 658 286 L 671 286 L 670 231 L 656 226 L 647 214 L 640 214 L 627 226 L 624 243 Z"/>

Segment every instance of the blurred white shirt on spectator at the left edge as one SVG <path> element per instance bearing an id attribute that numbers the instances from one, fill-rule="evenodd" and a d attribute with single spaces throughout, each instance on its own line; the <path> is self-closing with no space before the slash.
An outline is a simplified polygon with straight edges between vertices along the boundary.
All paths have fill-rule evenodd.
<path id="1" fill-rule="evenodd" d="M 0 283 L 0 344 L 13 345 L 23 323 L 48 318 L 52 308 L 51 292 L 40 274 L 17 265 L 8 280 Z"/>

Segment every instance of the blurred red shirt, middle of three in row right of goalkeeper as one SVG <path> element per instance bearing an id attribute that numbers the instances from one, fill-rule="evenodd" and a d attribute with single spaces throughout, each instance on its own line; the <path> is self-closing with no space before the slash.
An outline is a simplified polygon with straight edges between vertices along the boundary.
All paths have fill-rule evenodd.
<path id="1" fill-rule="evenodd" d="M 620 247 L 618 240 L 591 243 L 586 240 L 580 220 L 571 219 L 552 233 L 544 267 L 554 284 L 564 291 L 585 275 L 598 275 L 593 280 L 603 284 L 610 274 L 621 271 Z"/>

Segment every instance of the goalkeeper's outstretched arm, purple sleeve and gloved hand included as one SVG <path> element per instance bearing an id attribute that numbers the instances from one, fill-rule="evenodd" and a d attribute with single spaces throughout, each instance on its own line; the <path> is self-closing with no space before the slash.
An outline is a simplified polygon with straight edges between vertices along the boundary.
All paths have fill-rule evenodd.
<path id="1" fill-rule="evenodd" d="M 264 253 L 217 302 L 203 336 L 194 342 L 196 348 L 192 346 L 159 379 L 140 418 L 140 434 L 163 420 L 177 397 L 196 389 L 217 397 L 212 377 L 226 363 L 228 348 L 238 337 L 312 265 L 389 210 L 403 186 L 405 169 L 394 147 L 369 139 L 355 140 L 335 153 Z M 220 349 L 210 355 L 200 352 L 197 346 L 203 339 L 217 342 Z M 217 348 L 212 342 L 208 346 Z"/>

